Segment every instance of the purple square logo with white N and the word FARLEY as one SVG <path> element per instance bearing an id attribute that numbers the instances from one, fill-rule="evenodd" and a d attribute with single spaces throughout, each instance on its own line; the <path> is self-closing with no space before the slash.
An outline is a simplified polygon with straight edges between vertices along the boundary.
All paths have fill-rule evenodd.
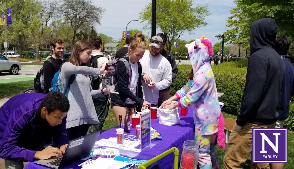
<path id="1" fill-rule="evenodd" d="M 252 163 L 288 163 L 288 128 L 253 128 Z"/>

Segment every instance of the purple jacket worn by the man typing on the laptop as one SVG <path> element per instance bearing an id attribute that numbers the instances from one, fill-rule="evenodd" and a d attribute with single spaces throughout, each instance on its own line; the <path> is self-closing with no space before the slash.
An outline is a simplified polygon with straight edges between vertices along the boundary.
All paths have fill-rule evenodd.
<path id="1" fill-rule="evenodd" d="M 10 98 L 0 108 L 0 158 L 13 161 L 34 161 L 37 151 L 23 147 L 26 139 L 34 134 L 36 126 L 44 122 L 40 117 L 41 107 L 39 106 L 45 96 L 42 93 L 19 94 Z M 66 133 L 66 117 L 62 119 L 61 124 L 49 126 L 49 131 L 53 133 L 53 140 L 58 147 L 69 143 Z"/>

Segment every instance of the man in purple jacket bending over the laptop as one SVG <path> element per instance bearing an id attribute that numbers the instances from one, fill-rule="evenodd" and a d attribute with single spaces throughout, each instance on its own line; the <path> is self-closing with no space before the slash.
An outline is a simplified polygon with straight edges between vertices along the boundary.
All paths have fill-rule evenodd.
<path id="1" fill-rule="evenodd" d="M 21 169 L 24 161 L 62 155 L 69 143 L 66 116 L 69 100 L 61 92 L 23 93 L 0 108 L 0 158 L 5 168 Z M 57 148 L 44 142 L 52 139 Z"/>

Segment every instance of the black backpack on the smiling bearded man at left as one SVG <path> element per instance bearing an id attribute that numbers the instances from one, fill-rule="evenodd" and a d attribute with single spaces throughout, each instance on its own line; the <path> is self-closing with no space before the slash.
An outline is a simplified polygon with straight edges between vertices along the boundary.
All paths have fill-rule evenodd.
<path id="1" fill-rule="evenodd" d="M 54 61 L 52 61 L 51 59 L 47 59 L 44 62 L 44 64 L 46 62 L 51 63 L 51 65 L 53 66 L 53 70 L 56 70 L 56 64 L 54 63 Z M 43 66 L 44 66 L 44 64 L 43 64 Z M 44 71 L 43 71 L 43 68 L 44 67 L 42 67 L 38 71 L 36 77 L 34 78 L 34 89 L 35 89 L 35 92 L 37 92 L 37 93 L 44 93 L 44 94 L 46 94 L 46 90 L 45 90 L 45 86 L 44 86 Z"/>

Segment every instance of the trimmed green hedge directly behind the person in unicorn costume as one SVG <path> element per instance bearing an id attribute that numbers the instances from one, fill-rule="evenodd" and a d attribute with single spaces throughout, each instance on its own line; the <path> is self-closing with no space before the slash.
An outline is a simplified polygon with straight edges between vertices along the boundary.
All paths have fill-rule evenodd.
<path id="1" fill-rule="evenodd" d="M 248 61 L 222 63 L 212 66 L 217 91 L 225 93 L 223 102 L 225 106 L 223 111 L 237 115 L 240 112 L 241 98 L 245 88 L 246 71 Z M 171 83 L 171 94 L 173 96 L 188 81 L 188 74 L 191 71 L 191 65 L 178 65 L 178 76 Z"/>

